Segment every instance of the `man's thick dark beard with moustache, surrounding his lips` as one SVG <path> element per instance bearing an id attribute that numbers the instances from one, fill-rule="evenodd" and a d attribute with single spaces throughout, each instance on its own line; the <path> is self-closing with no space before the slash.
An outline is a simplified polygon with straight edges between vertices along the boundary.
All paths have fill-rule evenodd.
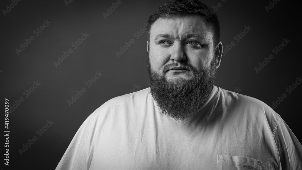
<path id="1" fill-rule="evenodd" d="M 198 112 L 204 105 L 210 94 L 216 79 L 216 58 L 211 61 L 210 69 L 198 72 L 193 66 L 181 63 L 181 66 L 190 70 L 193 77 L 184 79 L 182 77 L 167 80 L 166 71 L 174 63 L 164 66 L 164 75 L 159 75 L 151 69 L 148 55 L 148 72 L 150 78 L 150 92 L 158 105 L 161 115 L 172 117 L 178 121 L 185 120 Z"/>

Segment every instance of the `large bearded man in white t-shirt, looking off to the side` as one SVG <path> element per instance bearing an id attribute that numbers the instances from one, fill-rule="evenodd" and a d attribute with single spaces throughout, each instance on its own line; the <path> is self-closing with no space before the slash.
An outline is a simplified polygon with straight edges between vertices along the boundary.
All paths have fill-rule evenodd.
<path id="1" fill-rule="evenodd" d="M 214 86 L 217 16 L 197 0 L 150 16 L 151 87 L 113 98 L 82 124 L 59 169 L 302 169 L 302 146 L 255 98 Z"/>

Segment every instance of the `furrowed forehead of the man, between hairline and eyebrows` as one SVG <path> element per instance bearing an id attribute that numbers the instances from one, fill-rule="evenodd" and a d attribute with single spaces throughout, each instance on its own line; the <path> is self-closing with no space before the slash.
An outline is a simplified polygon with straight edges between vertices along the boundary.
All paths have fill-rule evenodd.
<path id="1" fill-rule="evenodd" d="M 212 37 L 212 31 L 206 19 L 197 14 L 159 18 L 151 26 L 150 38 L 154 40 L 159 35 L 165 34 L 178 38 L 186 38 L 191 35 L 199 35 L 205 39 Z"/>

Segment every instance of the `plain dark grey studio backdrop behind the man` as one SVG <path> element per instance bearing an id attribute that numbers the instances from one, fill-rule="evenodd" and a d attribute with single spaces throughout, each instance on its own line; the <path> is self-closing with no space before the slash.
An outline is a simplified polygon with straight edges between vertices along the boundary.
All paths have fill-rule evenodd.
<path id="1" fill-rule="evenodd" d="M 103 12 L 116 2 L 74 0 L 66 6 L 64 0 L 23 0 L 6 16 L 1 14 L 2 111 L 4 98 L 9 99 L 10 105 L 24 98 L 9 114 L 10 166 L 4 165 L 3 169 L 55 169 L 76 131 L 95 109 L 113 97 L 129 93 L 134 84 L 141 86 L 139 90 L 149 87 L 146 33 L 139 39 L 134 34 L 168 1 L 122 0 L 105 19 Z M 222 3 L 217 11 L 220 40 L 223 48 L 232 41 L 236 43 L 223 56 L 215 85 L 230 91 L 239 87 L 240 94 L 257 98 L 269 106 L 286 93 L 287 98 L 275 111 L 301 141 L 301 85 L 291 94 L 286 91 L 301 76 L 298 5 L 281 0 L 267 12 L 268 0 L 203 2 L 210 6 Z M 2 1 L 1 10 L 11 3 Z M 51 23 L 35 36 L 33 31 L 47 19 Z M 236 42 L 234 37 L 248 25 L 252 29 Z M 88 38 L 56 68 L 54 61 L 73 48 L 72 43 L 83 32 L 89 34 Z M 17 55 L 15 49 L 32 35 L 35 39 Z M 132 38 L 135 43 L 118 58 L 116 52 Z M 275 55 L 272 50 L 283 38 L 290 42 Z M 255 67 L 270 54 L 274 58 L 257 74 Z M 96 71 L 103 75 L 87 88 L 85 82 L 94 77 Z M 25 98 L 23 92 L 32 87 L 34 81 L 41 85 Z M 67 100 L 82 87 L 87 91 L 69 107 Z M 18 149 L 22 149 L 28 139 L 38 136 L 37 130 L 45 126 L 47 120 L 54 124 L 21 156 Z"/>

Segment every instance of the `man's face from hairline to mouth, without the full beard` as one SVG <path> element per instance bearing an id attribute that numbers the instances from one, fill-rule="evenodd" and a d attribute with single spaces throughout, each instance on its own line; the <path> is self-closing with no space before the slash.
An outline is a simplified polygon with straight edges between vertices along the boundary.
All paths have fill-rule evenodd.
<path id="1" fill-rule="evenodd" d="M 190 79 L 210 68 L 215 57 L 213 33 L 200 15 L 179 15 L 155 21 L 150 29 L 149 57 L 152 70 L 168 80 Z M 218 67 L 218 66 L 217 66 Z"/>

